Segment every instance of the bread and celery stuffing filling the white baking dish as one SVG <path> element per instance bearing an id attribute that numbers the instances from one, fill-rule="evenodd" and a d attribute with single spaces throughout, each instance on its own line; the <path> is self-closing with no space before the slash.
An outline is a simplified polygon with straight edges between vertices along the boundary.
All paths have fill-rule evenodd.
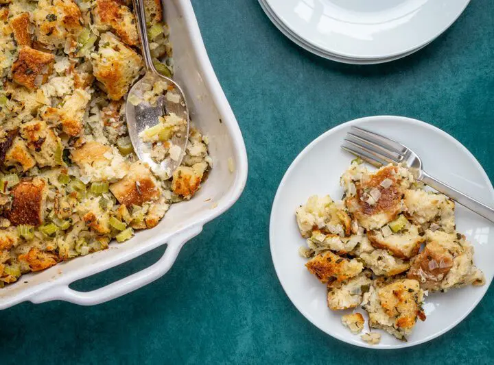
<path id="1" fill-rule="evenodd" d="M 161 3 L 145 3 L 154 65 L 170 77 Z M 207 138 L 191 127 L 187 150 L 173 149 L 173 115 L 154 142 L 183 154 L 176 173 L 158 176 L 134 154 L 125 104 L 144 69 L 129 4 L 0 1 L 0 287 L 156 226 L 207 177 Z"/>

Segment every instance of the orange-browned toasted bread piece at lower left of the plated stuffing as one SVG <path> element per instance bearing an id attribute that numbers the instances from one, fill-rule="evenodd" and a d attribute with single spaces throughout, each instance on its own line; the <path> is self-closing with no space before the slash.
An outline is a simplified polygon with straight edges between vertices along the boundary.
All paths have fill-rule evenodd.
<path id="1" fill-rule="evenodd" d="M 331 251 L 314 256 L 305 266 L 323 284 L 341 283 L 364 270 L 364 266 L 357 260 L 340 257 Z"/>

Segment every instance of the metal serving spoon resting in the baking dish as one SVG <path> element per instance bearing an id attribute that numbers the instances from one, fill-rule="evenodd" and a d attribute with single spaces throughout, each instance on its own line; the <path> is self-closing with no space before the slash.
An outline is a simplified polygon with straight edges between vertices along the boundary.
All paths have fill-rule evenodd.
<path id="1" fill-rule="evenodd" d="M 172 176 L 176 168 L 180 166 L 180 163 L 183 160 L 183 156 L 185 155 L 185 149 L 187 147 L 187 140 L 189 137 L 189 110 L 187 108 L 187 103 L 185 101 L 185 95 L 176 84 L 175 81 L 170 79 L 169 77 L 163 76 L 152 63 L 152 57 L 149 47 L 148 33 L 146 29 L 146 21 L 145 21 L 145 12 L 144 12 L 144 3 L 143 0 L 132 0 L 134 3 L 134 13 L 137 21 L 137 32 L 139 33 L 139 40 L 141 41 L 141 49 L 143 53 L 146 73 L 145 75 L 137 81 L 134 86 L 130 89 L 127 97 L 126 104 L 126 118 L 127 118 L 127 127 L 128 133 L 130 136 L 130 141 L 132 142 L 132 146 L 134 147 L 134 151 L 139 157 L 139 160 L 146 162 L 149 164 L 152 171 L 155 173 L 158 172 L 166 172 L 168 177 Z M 139 105 L 132 104 L 129 100 L 135 99 L 135 97 L 139 99 L 143 99 L 143 93 L 146 90 L 149 90 L 149 86 L 153 86 L 154 83 L 158 80 L 166 81 L 168 86 L 172 86 L 174 89 L 174 94 L 180 96 L 180 102 L 173 103 L 172 101 L 168 101 L 165 95 L 161 95 L 156 100 L 156 105 L 150 105 L 148 102 L 141 101 Z M 131 97 L 134 95 L 134 97 Z M 178 160 L 173 160 L 169 156 L 165 158 L 160 164 L 154 162 L 150 157 L 149 148 L 146 148 L 145 143 L 139 137 L 141 131 L 143 131 L 146 127 L 153 127 L 159 123 L 158 117 L 174 113 L 180 118 L 184 118 L 187 121 L 187 131 L 185 133 L 176 133 L 172 137 L 172 143 L 180 149 L 182 149 L 182 153 L 180 153 L 180 158 Z"/>

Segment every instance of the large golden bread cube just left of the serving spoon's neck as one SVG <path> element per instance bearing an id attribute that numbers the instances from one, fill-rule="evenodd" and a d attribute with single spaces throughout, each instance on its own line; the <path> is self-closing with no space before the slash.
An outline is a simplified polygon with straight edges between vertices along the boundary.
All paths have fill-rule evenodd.
<path id="1" fill-rule="evenodd" d="M 92 63 L 96 79 L 113 100 L 126 95 L 143 66 L 140 55 L 108 32 L 101 35 L 98 53 Z"/>

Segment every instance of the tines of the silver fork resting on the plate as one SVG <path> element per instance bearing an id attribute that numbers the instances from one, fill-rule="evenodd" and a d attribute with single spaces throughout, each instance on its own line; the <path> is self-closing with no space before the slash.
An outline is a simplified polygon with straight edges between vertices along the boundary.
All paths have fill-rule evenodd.
<path id="1" fill-rule="evenodd" d="M 398 164 L 408 153 L 408 148 L 403 144 L 355 126 L 346 134 L 342 149 L 378 167 Z"/>

